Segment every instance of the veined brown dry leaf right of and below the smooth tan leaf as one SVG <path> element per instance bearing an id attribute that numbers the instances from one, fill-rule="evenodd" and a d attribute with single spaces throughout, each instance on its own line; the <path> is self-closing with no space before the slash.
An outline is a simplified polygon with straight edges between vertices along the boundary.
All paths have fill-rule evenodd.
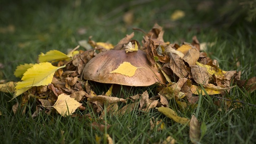
<path id="1" fill-rule="evenodd" d="M 191 72 L 194 81 L 198 84 L 207 85 L 209 82 L 209 75 L 206 68 L 202 68 L 198 65 L 191 65 Z"/>

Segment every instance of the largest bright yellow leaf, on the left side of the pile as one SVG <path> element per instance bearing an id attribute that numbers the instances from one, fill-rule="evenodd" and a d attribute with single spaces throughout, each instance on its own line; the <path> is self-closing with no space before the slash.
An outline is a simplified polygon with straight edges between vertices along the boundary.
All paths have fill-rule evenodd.
<path id="1" fill-rule="evenodd" d="M 34 64 L 24 73 L 22 81 L 17 82 L 15 89 L 17 91 L 25 87 L 48 85 L 52 82 L 55 71 L 64 67 L 65 65 L 56 67 L 48 62 Z"/>

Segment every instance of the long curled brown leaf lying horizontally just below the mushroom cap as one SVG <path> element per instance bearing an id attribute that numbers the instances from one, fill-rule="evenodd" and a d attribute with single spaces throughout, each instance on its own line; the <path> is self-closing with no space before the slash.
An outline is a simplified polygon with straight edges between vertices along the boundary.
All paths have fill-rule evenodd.
<path id="1" fill-rule="evenodd" d="M 102 96 L 102 95 L 98 95 L 98 96 L 91 96 L 87 98 L 87 101 L 89 102 L 94 102 L 94 101 L 98 101 L 101 103 L 115 103 L 115 102 L 124 102 L 126 103 L 127 101 L 123 98 L 119 98 L 119 97 L 109 97 L 109 96 Z"/>

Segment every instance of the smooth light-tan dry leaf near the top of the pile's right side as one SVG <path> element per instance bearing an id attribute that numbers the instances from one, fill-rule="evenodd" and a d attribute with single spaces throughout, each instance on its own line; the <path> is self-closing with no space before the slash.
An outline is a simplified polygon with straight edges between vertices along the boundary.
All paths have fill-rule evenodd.
<path id="1" fill-rule="evenodd" d="M 183 60 L 188 63 L 188 65 L 196 65 L 199 59 L 200 52 L 196 48 L 189 49 L 187 54 L 183 57 Z"/>

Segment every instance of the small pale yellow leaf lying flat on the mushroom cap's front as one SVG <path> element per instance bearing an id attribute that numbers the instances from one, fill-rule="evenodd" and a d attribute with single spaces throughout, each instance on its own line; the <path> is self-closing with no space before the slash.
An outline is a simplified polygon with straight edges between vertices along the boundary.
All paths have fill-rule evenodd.
<path id="1" fill-rule="evenodd" d="M 143 68 L 143 67 L 141 67 L 141 68 Z M 133 66 L 129 62 L 123 62 L 122 64 L 120 64 L 118 66 L 117 69 L 111 71 L 110 73 L 118 73 L 118 74 L 122 74 L 122 75 L 131 77 L 135 74 L 135 71 L 137 69 L 138 69 L 137 67 Z"/>

